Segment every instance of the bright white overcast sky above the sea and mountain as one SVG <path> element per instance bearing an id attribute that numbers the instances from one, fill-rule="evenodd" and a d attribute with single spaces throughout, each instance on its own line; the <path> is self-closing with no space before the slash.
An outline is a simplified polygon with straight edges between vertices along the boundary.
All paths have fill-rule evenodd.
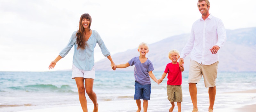
<path id="1" fill-rule="evenodd" d="M 256 27 L 255 3 L 210 0 L 209 12 L 226 29 Z M 91 15 L 91 29 L 111 55 L 190 33 L 201 16 L 197 0 L 0 0 L 0 71 L 71 69 L 74 47 L 54 69 L 48 66 L 78 29 L 83 13 Z M 105 58 L 98 45 L 94 58 Z"/>

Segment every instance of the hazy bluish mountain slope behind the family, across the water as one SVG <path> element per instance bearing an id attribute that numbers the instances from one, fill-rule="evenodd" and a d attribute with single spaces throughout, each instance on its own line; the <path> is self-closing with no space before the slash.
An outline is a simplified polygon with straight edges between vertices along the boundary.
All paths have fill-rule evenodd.
<path id="1" fill-rule="evenodd" d="M 256 71 L 256 27 L 241 28 L 235 30 L 226 30 L 227 41 L 220 48 L 218 71 Z M 168 52 L 171 49 L 182 51 L 188 41 L 190 34 L 182 34 L 165 38 L 159 42 L 149 44 L 149 52 L 146 57 L 150 59 L 155 68 L 154 71 L 164 71 L 167 63 L 171 60 L 168 58 Z M 116 64 L 123 64 L 135 56 L 139 56 L 137 47 L 125 52 L 111 55 Z M 95 63 L 95 68 L 99 71 L 110 71 L 110 62 L 107 58 Z M 189 55 L 184 59 L 185 71 L 189 68 Z M 134 66 L 127 68 L 117 68 L 117 71 L 133 71 Z"/>

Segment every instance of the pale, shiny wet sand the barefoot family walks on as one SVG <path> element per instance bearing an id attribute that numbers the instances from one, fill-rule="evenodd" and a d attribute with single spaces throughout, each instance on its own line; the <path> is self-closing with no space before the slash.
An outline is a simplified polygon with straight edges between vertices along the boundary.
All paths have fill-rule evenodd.
<path id="1" fill-rule="evenodd" d="M 255 112 L 256 109 L 256 89 L 237 91 L 237 92 L 226 92 L 217 93 L 214 105 L 214 112 Z M 198 109 L 199 111 L 208 111 L 209 100 L 208 94 L 198 94 Z M 183 96 L 183 102 L 181 103 L 181 110 L 183 112 L 192 111 L 192 103 L 190 96 Z M 176 103 L 175 103 L 176 104 Z M 167 98 L 151 98 L 148 104 L 148 112 L 167 112 L 170 108 L 170 102 Z M 88 103 L 88 111 L 93 110 L 93 104 Z M 99 112 L 135 112 L 137 106 L 135 100 L 111 100 L 111 101 L 100 101 Z M 82 112 L 80 105 L 66 106 L 66 107 L 53 107 L 53 108 L 42 108 L 25 110 L 19 112 Z M 143 111 L 143 109 L 141 110 Z M 174 108 L 174 112 L 178 111 L 177 107 Z"/>

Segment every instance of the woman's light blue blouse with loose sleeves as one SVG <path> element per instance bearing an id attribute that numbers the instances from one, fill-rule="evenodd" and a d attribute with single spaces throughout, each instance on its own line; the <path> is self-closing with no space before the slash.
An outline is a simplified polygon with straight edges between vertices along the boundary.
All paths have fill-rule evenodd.
<path id="1" fill-rule="evenodd" d="M 107 47 L 105 46 L 103 40 L 101 39 L 99 33 L 95 30 L 92 30 L 92 35 L 90 38 L 86 41 L 87 45 L 84 50 L 77 49 L 76 44 L 76 32 L 75 31 L 69 42 L 68 45 L 60 52 L 60 56 L 64 58 L 70 49 L 75 45 L 74 50 L 74 56 L 73 56 L 73 63 L 74 65 L 82 70 L 92 70 L 92 67 L 94 66 L 94 48 L 96 46 L 96 43 L 99 44 L 102 54 L 107 57 L 110 55 L 110 52 L 108 51 Z"/>

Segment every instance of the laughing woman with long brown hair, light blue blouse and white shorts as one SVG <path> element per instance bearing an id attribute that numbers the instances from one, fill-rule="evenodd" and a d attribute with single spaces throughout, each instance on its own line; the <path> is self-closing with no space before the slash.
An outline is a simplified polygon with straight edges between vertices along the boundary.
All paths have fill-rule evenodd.
<path id="1" fill-rule="evenodd" d="M 94 48 L 98 43 L 102 54 L 107 57 L 111 62 L 111 67 L 115 67 L 115 63 L 112 61 L 110 52 L 106 48 L 99 33 L 95 30 L 91 30 L 92 17 L 85 13 L 80 17 L 79 30 L 75 31 L 68 45 L 59 53 L 59 56 L 51 62 L 49 69 L 54 68 L 56 63 L 64 58 L 69 50 L 75 45 L 75 51 L 73 56 L 72 65 L 72 79 L 76 80 L 78 89 L 79 101 L 84 112 L 87 112 L 87 100 L 85 97 L 85 91 L 94 104 L 93 112 L 98 112 L 97 96 L 92 91 L 94 80 Z M 84 88 L 85 82 L 85 88 Z"/>

